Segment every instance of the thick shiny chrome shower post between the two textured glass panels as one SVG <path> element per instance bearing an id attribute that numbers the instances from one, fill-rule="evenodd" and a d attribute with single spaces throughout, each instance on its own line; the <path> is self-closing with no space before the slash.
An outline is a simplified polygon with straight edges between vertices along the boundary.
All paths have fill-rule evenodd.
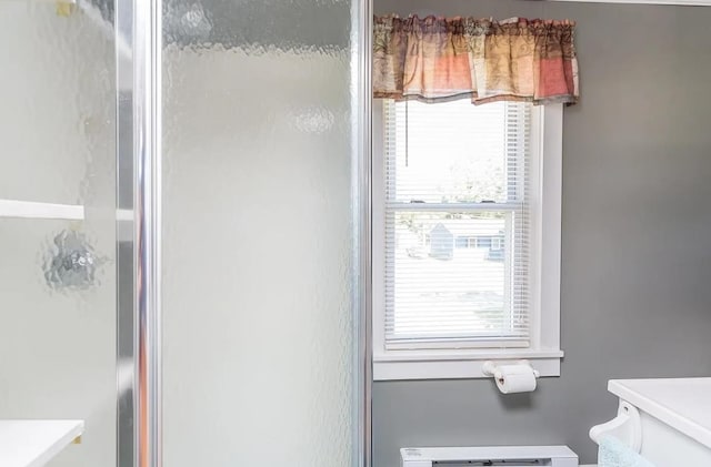
<path id="1" fill-rule="evenodd" d="M 162 1 L 116 0 L 117 207 L 132 210 L 132 229 L 117 224 L 117 465 L 162 465 L 161 416 L 161 61 Z M 130 220 L 129 220 L 130 222 Z"/>

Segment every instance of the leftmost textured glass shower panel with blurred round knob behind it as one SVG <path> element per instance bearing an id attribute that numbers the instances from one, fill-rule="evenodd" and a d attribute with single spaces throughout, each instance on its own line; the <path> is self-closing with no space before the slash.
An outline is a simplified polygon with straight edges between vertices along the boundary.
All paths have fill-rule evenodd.
<path id="1" fill-rule="evenodd" d="M 116 465 L 116 83 L 112 2 L 0 2 L 0 419 L 86 420 L 51 467 Z"/>

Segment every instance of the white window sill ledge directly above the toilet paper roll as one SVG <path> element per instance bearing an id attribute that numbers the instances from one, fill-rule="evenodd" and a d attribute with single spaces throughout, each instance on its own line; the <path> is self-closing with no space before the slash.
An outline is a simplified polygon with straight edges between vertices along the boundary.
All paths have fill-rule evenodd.
<path id="1" fill-rule="evenodd" d="M 528 359 L 541 376 L 560 376 L 562 351 L 470 351 L 467 353 L 375 355 L 373 357 L 374 380 L 403 379 L 472 379 L 487 378 L 481 367 L 485 361 L 515 363 Z"/>

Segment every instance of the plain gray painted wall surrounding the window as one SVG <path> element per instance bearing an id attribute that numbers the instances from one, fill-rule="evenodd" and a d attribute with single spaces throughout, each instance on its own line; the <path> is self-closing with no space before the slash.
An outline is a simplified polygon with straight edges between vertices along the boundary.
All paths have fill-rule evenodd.
<path id="1" fill-rule="evenodd" d="M 560 378 L 375 383 L 375 467 L 404 446 L 567 444 L 614 415 L 607 380 L 711 375 L 711 8 L 375 0 L 397 12 L 578 21 L 565 109 Z"/>

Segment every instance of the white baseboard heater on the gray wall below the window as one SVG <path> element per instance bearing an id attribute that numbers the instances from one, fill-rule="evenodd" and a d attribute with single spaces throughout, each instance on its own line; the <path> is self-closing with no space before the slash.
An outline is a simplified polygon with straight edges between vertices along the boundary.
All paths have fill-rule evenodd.
<path id="1" fill-rule="evenodd" d="M 401 467 L 578 467 L 568 446 L 407 447 Z"/>

